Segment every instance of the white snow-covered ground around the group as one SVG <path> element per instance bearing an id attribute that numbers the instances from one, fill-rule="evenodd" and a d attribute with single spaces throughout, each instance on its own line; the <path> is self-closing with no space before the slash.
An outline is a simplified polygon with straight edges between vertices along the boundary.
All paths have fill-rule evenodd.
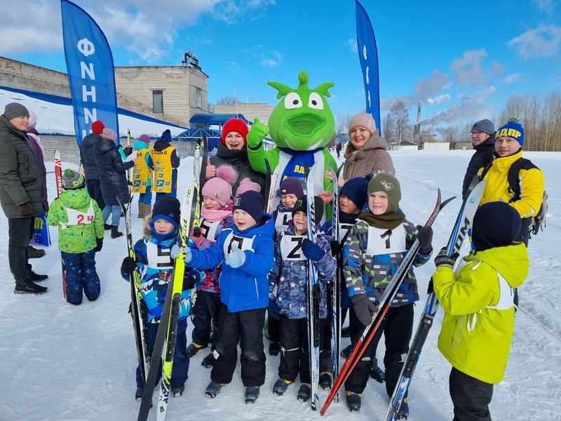
<path id="1" fill-rule="evenodd" d="M 401 207 L 407 218 L 422 224 L 435 201 L 437 187 L 443 198 L 460 196 L 471 151 L 392 152 L 403 190 Z M 511 358 L 503 382 L 495 387 L 491 410 L 494 420 L 559 420 L 558 396 L 561 392 L 561 288 L 557 239 L 561 220 L 560 153 L 526 153 L 546 175 L 550 211 L 547 227 L 529 244 L 530 273 L 520 288 L 520 312 L 516 316 Z M 340 162 L 340 161 L 339 161 Z M 192 158 L 180 167 L 180 196 L 192 178 Z M 64 163 L 63 163 L 64 165 Z M 72 165 L 68 165 L 72 167 Z M 53 163 L 47 163 L 49 199 L 55 197 Z M 135 203 L 136 204 L 136 203 Z M 435 250 L 445 246 L 459 210 L 460 199 L 452 201 L 436 220 Z M 136 206 L 135 206 L 136 208 Z M 136 211 L 135 211 L 136 213 Z M 123 222 L 121 222 L 123 227 Z M 0 215 L 0 232 L 7 232 Z M 133 219 L 133 236 L 141 234 L 141 221 Z M 43 285 L 45 295 L 13 294 L 13 277 L 8 268 L 8 236 L 0 237 L 0 420 L 135 420 L 140 401 L 135 401 L 134 335 L 128 311 L 128 283 L 121 279 L 119 267 L 126 256 L 126 241 L 106 234 L 103 250 L 97 255 L 97 272 L 102 294 L 96 302 L 74 307 L 62 297 L 60 254 L 57 232 L 51 229 L 53 245 L 46 256 L 32 260 L 37 273 L 50 278 Z M 424 303 L 426 285 L 433 273 L 433 262 L 416 269 Z M 416 314 L 419 315 L 420 306 Z M 450 365 L 436 348 L 442 314 L 424 347 L 410 389 L 410 420 L 451 420 L 452 403 L 448 395 Z M 189 326 L 189 330 L 191 326 Z M 188 333 L 190 338 L 190 332 Z M 347 339 L 348 341 L 348 339 Z M 383 342 L 382 342 L 383 343 Z M 344 342 L 346 345 L 346 342 Z M 269 347 L 269 341 L 265 340 Z M 384 352 L 381 344 L 378 355 Z M 278 356 L 267 355 L 267 375 L 261 396 L 254 405 L 245 405 L 243 386 L 236 370 L 234 381 L 215 399 L 205 398 L 210 370 L 201 366 L 206 352 L 191 359 L 189 380 L 183 396 L 170 398 L 167 420 L 318 420 L 309 403 L 297 401 L 298 384 L 284 396 L 273 395 Z M 326 392 L 320 393 L 325 399 Z M 384 385 L 370 380 L 358 414 L 347 410 L 344 400 L 332 403 L 326 420 L 380 420 L 388 398 Z M 150 420 L 156 420 L 152 410 Z"/>

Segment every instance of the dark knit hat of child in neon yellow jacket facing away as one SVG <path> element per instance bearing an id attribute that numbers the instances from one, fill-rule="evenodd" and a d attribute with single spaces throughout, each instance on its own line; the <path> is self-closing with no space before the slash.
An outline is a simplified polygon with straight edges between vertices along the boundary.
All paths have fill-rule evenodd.
<path id="1" fill-rule="evenodd" d="M 505 202 L 489 202 L 473 217 L 471 241 L 475 251 L 510 245 L 520 232 L 520 213 Z"/>

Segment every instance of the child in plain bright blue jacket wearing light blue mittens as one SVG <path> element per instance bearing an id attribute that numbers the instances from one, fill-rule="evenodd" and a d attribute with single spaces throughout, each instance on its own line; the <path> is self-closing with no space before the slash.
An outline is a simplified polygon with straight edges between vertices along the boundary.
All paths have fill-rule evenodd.
<path id="1" fill-rule="evenodd" d="M 232 380 L 241 347 L 241 378 L 245 403 L 253 403 L 265 382 L 263 327 L 269 305 L 268 274 L 273 267 L 273 234 L 270 214 L 263 212 L 263 196 L 255 191 L 234 199 L 234 227 L 222 230 L 216 243 L 205 250 L 187 250 L 185 262 L 198 269 L 222 263 L 220 328 L 214 338 L 216 361 L 210 372 L 206 396 L 214 398 Z"/>

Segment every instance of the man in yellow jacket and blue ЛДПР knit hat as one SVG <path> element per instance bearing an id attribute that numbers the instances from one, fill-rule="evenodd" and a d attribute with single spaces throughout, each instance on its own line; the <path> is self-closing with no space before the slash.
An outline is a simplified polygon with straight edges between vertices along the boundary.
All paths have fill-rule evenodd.
<path id="1" fill-rule="evenodd" d="M 519 172 L 520 195 L 512 192 L 508 187 L 508 170 L 515 161 L 522 158 L 524 145 L 524 128 L 519 123 L 509 121 L 496 131 L 494 161 L 488 171 L 483 173 L 483 180 L 487 180 L 485 192 L 480 205 L 492 201 L 510 203 L 522 218 L 522 226 L 518 241 L 526 246 L 529 239 L 529 227 L 532 217 L 537 215 L 541 206 L 545 181 L 539 168 L 529 163 Z"/>

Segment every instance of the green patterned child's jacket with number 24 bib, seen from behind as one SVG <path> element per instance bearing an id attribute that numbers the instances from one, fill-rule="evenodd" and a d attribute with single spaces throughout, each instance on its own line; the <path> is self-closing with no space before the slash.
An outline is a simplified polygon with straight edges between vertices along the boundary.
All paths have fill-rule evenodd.
<path id="1" fill-rule="evenodd" d="M 65 253 L 86 253 L 95 248 L 96 238 L 103 238 L 100 207 L 85 189 L 62 192 L 50 205 L 47 223 L 53 227 L 58 225 L 58 248 Z"/>

